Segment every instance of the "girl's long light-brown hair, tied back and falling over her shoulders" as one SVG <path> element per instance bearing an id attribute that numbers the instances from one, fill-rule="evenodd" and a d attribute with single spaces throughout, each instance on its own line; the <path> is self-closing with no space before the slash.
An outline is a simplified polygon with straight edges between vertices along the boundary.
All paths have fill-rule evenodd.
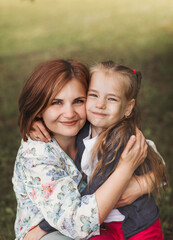
<path id="1" fill-rule="evenodd" d="M 120 156 L 130 136 L 135 134 L 136 127 L 139 129 L 141 128 L 140 112 L 137 107 L 137 96 L 142 78 L 141 73 L 128 67 L 115 64 L 113 61 L 102 62 L 93 67 L 91 69 L 91 77 L 97 71 L 102 71 L 105 74 L 112 74 L 113 77 L 116 73 L 116 77 L 120 76 L 119 81 L 122 81 L 122 79 L 125 80 L 125 97 L 128 101 L 135 99 L 135 105 L 128 117 L 124 117 L 118 123 L 115 123 L 109 128 L 103 130 L 103 132 L 98 136 L 97 142 L 92 151 L 91 161 L 94 161 L 96 156 L 98 156 L 99 161 L 91 175 L 90 182 L 96 175 L 104 176 L 105 168 L 108 167 L 109 164 L 113 164 L 117 155 Z M 110 160 L 107 161 L 105 156 Z M 109 175 L 115 170 L 116 164 L 113 164 L 113 166 L 114 167 Z M 154 179 L 150 177 L 150 175 L 149 177 L 151 178 L 157 193 L 159 193 L 160 188 L 163 186 L 163 182 L 167 183 L 167 173 L 162 158 L 153 150 L 152 147 L 148 146 L 147 159 L 139 166 L 135 173 L 137 175 L 145 176 L 145 174 L 150 171 L 153 172 Z M 146 178 L 146 182 L 148 182 L 148 178 Z"/>

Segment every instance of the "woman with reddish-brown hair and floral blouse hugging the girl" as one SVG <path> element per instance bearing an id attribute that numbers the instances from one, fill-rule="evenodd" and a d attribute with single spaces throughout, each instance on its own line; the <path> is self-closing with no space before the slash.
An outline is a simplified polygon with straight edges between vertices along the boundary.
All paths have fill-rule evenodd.
<path id="1" fill-rule="evenodd" d="M 73 239 L 99 234 L 100 223 L 146 156 L 145 140 L 138 132 L 136 142 L 135 137 L 128 142 L 116 171 L 107 181 L 94 194 L 80 195 L 82 175 L 74 161 L 76 135 L 86 120 L 88 81 L 89 72 L 83 64 L 59 59 L 36 68 L 22 90 L 19 125 L 24 141 L 13 175 L 17 198 L 16 240 L 24 236 L 29 239 L 27 233 L 43 219 Z M 49 129 L 51 142 L 28 137 L 36 119 L 42 119 Z M 44 234 L 41 232 L 39 238 Z M 61 239 L 58 231 L 57 236 Z"/>

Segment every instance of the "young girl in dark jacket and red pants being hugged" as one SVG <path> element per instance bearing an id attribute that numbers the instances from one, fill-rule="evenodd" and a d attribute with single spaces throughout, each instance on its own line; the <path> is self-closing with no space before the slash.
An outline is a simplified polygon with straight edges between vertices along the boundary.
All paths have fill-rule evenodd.
<path id="1" fill-rule="evenodd" d="M 81 168 L 90 182 L 85 193 L 93 193 L 116 169 L 129 137 L 140 128 L 137 97 L 141 74 L 112 61 L 91 70 L 87 96 L 87 118 L 91 131 L 84 139 Z M 94 169 L 94 171 L 93 171 Z M 146 161 L 136 175 L 153 172 L 156 189 L 166 180 L 162 159 L 148 148 Z M 105 229 L 94 239 L 163 239 L 159 209 L 152 194 L 143 195 L 128 206 L 113 209 L 104 221 Z"/>

